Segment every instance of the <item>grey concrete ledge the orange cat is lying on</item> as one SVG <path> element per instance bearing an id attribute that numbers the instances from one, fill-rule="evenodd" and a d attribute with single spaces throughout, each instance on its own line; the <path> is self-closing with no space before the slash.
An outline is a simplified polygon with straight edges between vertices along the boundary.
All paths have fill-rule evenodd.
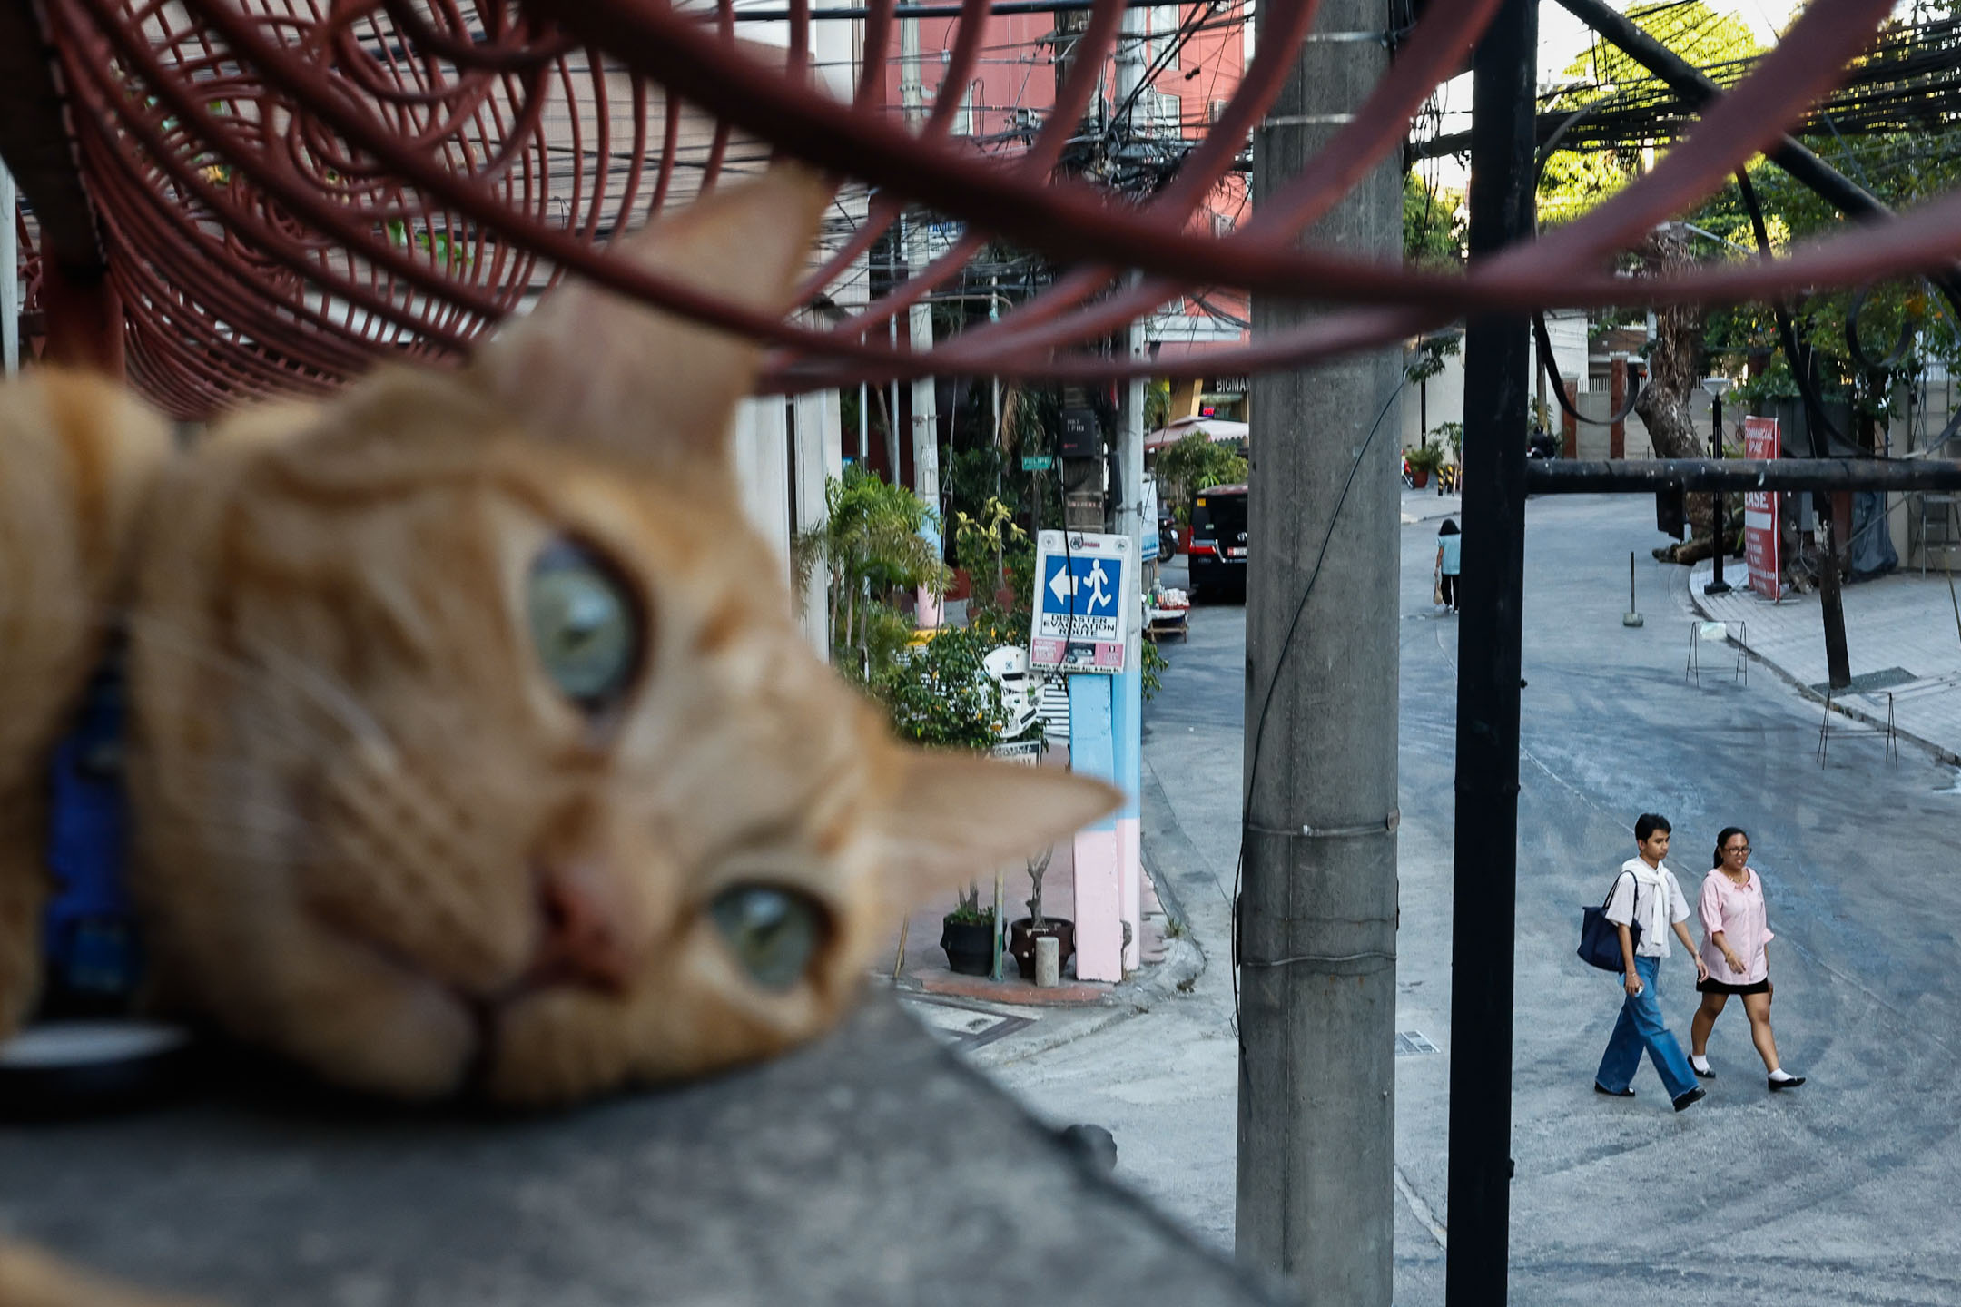
<path id="1" fill-rule="evenodd" d="M 0 1231 L 233 1307 L 1279 1303 L 890 995 L 792 1056 L 555 1115 L 382 1111 L 224 1068 L 0 1129 Z"/>

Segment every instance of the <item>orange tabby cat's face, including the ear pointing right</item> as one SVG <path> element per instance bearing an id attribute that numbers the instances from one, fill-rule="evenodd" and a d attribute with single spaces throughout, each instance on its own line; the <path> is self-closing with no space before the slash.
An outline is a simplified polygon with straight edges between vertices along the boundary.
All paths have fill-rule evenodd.
<path id="1" fill-rule="evenodd" d="M 777 1052 L 904 907 L 1116 798 L 892 743 L 794 625 L 720 429 L 665 433 L 647 396 L 647 457 L 596 404 L 616 378 L 539 404 L 561 345 L 255 417 L 157 500 L 135 790 L 165 964 L 359 1088 L 567 1101 Z"/>

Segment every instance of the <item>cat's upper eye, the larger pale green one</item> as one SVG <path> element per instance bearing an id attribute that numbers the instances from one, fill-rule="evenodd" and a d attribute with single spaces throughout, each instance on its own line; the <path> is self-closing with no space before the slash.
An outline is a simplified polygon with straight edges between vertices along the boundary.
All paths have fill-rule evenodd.
<path id="1" fill-rule="evenodd" d="M 639 604 L 620 572 L 573 541 L 531 562 L 526 609 L 551 682 L 586 711 L 626 694 L 641 658 Z"/>

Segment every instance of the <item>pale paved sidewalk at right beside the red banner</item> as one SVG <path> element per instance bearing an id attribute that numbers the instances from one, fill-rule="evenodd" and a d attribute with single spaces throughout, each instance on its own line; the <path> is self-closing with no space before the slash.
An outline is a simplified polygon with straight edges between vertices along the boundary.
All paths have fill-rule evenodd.
<path id="1" fill-rule="evenodd" d="M 1712 562 L 1698 562 L 1688 576 L 1688 604 L 1730 625 L 1730 639 L 1824 702 L 1826 639 L 1818 594 L 1794 594 L 1773 604 L 1747 590 L 1741 558 L 1724 564 L 1735 590 L 1702 594 Z M 1683 662 L 1688 629 L 1683 629 Z M 1875 727 L 1886 725 L 1888 696 L 1896 731 L 1926 745 L 1947 762 L 1961 764 L 1961 623 L 1936 572 L 1900 570 L 1879 580 L 1845 586 L 1845 645 L 1853 684 L 1832 696 L 1832 705 Z M 1704 676 L 1708 674 L 1704 651 Z M 1722 672 L 1718 672 L 1722 674 Z"/>

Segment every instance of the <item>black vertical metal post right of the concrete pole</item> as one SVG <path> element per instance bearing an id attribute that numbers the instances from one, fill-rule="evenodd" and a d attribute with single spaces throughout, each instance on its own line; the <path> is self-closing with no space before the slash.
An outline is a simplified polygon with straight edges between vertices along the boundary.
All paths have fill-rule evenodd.
<path id="1" fill-rule="evenodd" d="M 1532 235 L 1537 0 L 1504 0 L 1473 57 L 1471 257 Z M 1451 1242 L 1443 1301 L 1506 1301 L 1518 668 L 1526 580 L 1530 321 L 1465 323 L 1457 837 L 1451 858 Z"/>

